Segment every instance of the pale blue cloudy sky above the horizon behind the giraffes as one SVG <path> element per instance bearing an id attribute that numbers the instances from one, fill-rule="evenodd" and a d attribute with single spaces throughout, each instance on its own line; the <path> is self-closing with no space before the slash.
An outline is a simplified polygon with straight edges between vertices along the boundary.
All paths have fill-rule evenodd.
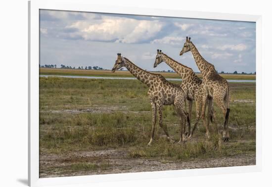
<path id="1" fill-rule="evenodd" d="M 40 10 L 40 64 L 111 69 L 118 52 L 146 70 L 156 69 L 156 49 L 199 72 L 185 37 L 218 72 L 256 71 L 253 22 Z"/>

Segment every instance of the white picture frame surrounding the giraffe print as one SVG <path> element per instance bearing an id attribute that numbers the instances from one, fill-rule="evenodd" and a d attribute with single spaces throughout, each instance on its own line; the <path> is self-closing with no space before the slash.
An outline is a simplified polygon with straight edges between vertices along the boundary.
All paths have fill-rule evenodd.
<path id="1" fill-rule="evenodd" d="M 256 165 L 224 168 L 205 168 L 175 171 L 139 172 L 77 177 L 39 178 L 39 10 L 70 10 L 100 13 L 169 16 L 214 20 L 256 22 Z M 261 171 L 262 165 L 262 121 L 261 89 L 262 18 L 259 15 L 196 12 L 139 7 L 105 6 L 91 4 L 88 0 L 32 0 L 29 1 L 29 123 L 28 123 L 28 184 L 29 186 L 72 185 L 96 182 L 125 181 L 137 179 L 171 178 L 182 176 L 215 175 Z"/>

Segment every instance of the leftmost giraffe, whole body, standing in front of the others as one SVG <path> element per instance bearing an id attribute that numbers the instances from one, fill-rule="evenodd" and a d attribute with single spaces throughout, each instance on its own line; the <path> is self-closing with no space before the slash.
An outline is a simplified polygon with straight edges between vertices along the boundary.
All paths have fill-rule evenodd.
<path id="1" fill-rule="evenodd" d="M 149 87 L 148 96 L 152 106 L 152 130 L 151 138 L 148 145 L 151 145 L 154 139 L 155 125 L 157 120 L 157 111 L 159 114 L 159 125 L 163 129 L 170 142 L 174 142 L 168 134 L 167 126 L 163 125 L 163 105 L 175 105 L 176 111 L 180 116 L 180 140 L 179 143 L 186 141 L 185 137 L 185 123 L 186 123 L 186 112 L 184 110 L 185 93 L 178 86 L 173 83 L 168 82 L 162 75 L 147 72 L 138 66 L 136 66 L 128 58 L 121 56 L 121 53 L 117 53 L 117 60 L 112 68 L 112 72 L 118 70 L 122 67 L 126 67 L 132 75 L 134 75 L 139 81 L 144 83 Z M 189 123 L 189 118 L 187 116 L 187 122 Z"/>

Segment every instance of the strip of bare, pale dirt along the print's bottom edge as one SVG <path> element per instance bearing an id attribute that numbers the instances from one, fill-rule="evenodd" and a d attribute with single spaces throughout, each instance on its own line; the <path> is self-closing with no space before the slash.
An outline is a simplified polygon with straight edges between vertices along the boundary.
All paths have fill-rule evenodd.
<path id="1" fill-rule="evenodd" d="M 158 158 L 129 158 L 127 154 L 128 151 L 126 148 L 119 148 L 73 152 L 65 155 L 40 155 L 40 177 L 46 178 L 97 174 L 116 174 L 211 167 L 245 166 L 256 164 L 255 154 L 242 154 L 220 158 L 191 159 L 186 161 L 173 161 Z M 69 165 L 75 162 L 92 162 L 97 164 L 98 166 L 101 163 L 107 163 L 108 166 L 106 169 L 93 169 L 89 171 L 75 172 L 69 170 Z M 48 168 L 52 168 L 52 170 Z"/>

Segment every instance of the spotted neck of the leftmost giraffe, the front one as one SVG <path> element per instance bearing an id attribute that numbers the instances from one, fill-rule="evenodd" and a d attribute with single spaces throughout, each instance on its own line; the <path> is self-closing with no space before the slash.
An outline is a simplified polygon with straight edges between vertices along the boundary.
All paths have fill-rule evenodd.
<path id="1" fill-rule="evenodd" d="M 155 74 L 144 71 L 125 57 L 124 59 L 125 67 L 131 72 L 131 74 L 134 75 L 139 81 L 150 87 L 152 85 L 151 80 L 153 80 Z"/>

